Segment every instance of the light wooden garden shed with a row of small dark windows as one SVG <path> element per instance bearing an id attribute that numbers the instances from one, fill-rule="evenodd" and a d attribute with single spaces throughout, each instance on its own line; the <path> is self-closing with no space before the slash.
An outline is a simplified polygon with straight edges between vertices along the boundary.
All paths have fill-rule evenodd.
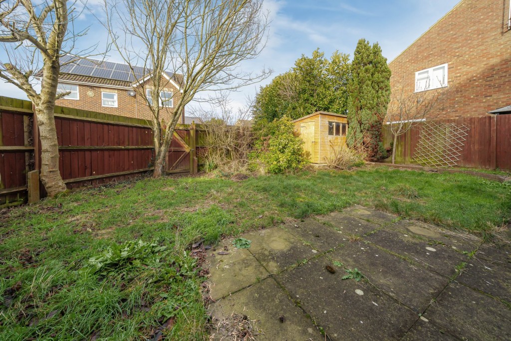
<path id="1" fill-rule="evenodd" d="M 325 164 L 327 157 L 346 144 L 346 115 L 317 111 L 293 123 L 296 135 L 304 140 L 305 154 L 313 164 Z"/>

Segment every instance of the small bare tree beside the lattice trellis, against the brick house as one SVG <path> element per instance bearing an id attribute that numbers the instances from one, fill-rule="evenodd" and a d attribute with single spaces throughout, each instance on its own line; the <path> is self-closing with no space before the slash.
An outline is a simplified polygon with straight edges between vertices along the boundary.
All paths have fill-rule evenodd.
<path id="1" fill-rule="evenodd" d="M 398 137 L 426 119 L 435 119 L 454 108 L 451 94 L 454 84 L 449 87 L 410 93 L 401 85 L 390 95 L 385 121 L 393 137 L 392 164 L 396 161 Z"/>

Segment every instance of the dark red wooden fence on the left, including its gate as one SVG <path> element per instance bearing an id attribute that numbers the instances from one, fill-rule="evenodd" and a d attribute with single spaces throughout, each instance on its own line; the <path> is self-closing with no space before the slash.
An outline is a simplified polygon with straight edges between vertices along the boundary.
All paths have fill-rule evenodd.
<path id="1" fill-rule="evenodd" d="M 27 174 L 40 170 L 37 118 L 30 101 L 0 96 L 0 207 L 24 203 Z M 125 179 L 153 169 L 153 133 L 146 120 L 55 108 L 59 170 L 69 189 Z M 178 125 L 167 173 L 194 174 L 204 132 Z M 41 184 L 41 196 L 45 192 Z"/>

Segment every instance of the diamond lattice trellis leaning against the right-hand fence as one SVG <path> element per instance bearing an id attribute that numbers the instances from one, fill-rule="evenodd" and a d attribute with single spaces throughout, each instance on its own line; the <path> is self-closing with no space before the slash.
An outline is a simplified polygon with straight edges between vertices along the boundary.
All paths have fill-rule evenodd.
<path id="1" fill-rule="evenodd" d="M 466 125 L 424 122 L 412 162 L 429 167 L 456 166 L 469 130 Z"/>

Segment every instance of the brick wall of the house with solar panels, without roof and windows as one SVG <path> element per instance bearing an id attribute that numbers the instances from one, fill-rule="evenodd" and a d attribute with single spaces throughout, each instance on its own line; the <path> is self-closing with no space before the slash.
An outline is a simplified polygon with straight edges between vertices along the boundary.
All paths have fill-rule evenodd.
<path id="1" fill-rule="evenodd" d="M 62 83 L 65 83 L 65 80 L 60 81 Z M 179 99 L 181 98 L 181 93 L 179 92 L 176 87 L 167 81 L 167 79 L 162 78 L 162 84 L 165 87 L 166 90 L 172 91 L 174 94 L 174 104 L 176 104 Z M 144 83 L 144 89 L 150 88 L 152 86 L 152 80 L 148 80 Z M 137 88 L 138 91 L 140 91 L 142 87 Z M 98 111 L 98 112 L 104 112 L 104 113 L 110 113 L 113 115 L 121 115 L 121 116 L 128 116 L 133 117 L 137 119 L 145 119 L 145 120 L 152 120 L 152 113 L 149 109 L 148 105 L 146 104 L 144 98 L 140 94 L 136 94 L 135 97 L 131 97 L 128 95 L 129 88 L 126 89 L 118 89 L 118 88 L 110 88 L 106 86 L 92 86 L 92 85 L 83 85 L 78 84 L 78 94 L 79 99 L 78 100 L 71 100 L 71 99 L 59 99 L 55 102 L 55 104 L 60 106 L 66 106 L 70 108 L 77 108 L 77 109 L 83 109 L 83 110 L 90 110 L 90 111 Z M 117 108 L 112 107 L 105 107 L 102 106 L 101 101 L 101 92 L 109 92 L 109 93 L 117 93 Z M 90 94 L 94 94 L 94 96 L 89 96 Z M 172 115 L 173 108 L 161 108 L 160 111 L 160 118 L 164 119 L 165 122 L 169 122 L 170 117 Z M 181 118 L 178 123 L 181 123 L 184 121 L 184 109 L 181 112 Z"/>

